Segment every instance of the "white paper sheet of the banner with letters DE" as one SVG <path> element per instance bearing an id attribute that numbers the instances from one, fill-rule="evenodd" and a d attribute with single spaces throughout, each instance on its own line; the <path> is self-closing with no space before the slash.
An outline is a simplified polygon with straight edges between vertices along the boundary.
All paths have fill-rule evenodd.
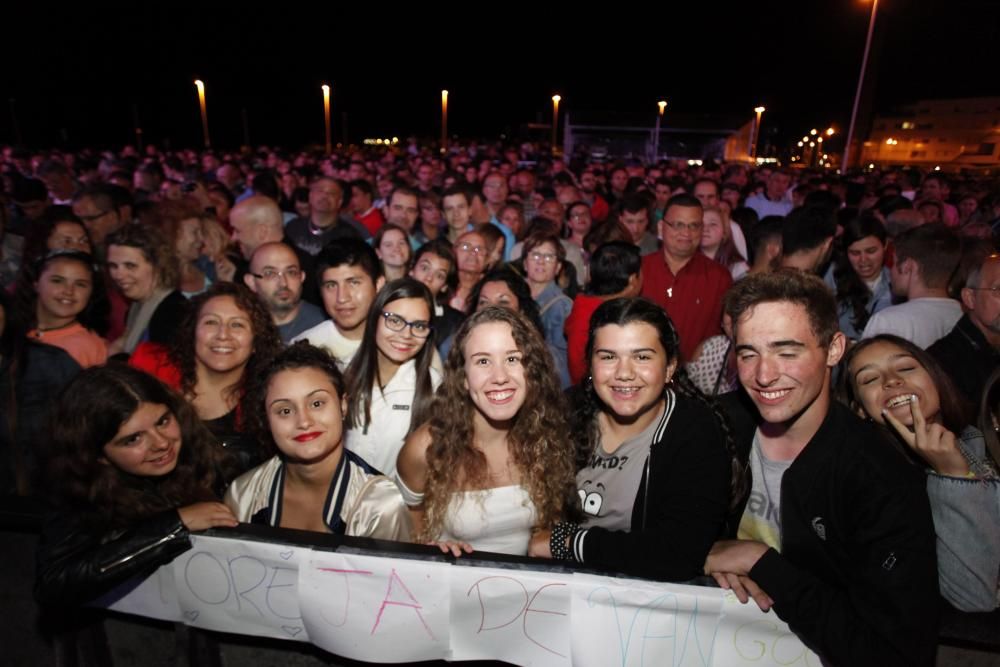
<path id="1" fill-rule="evenodd" d="M 565 575 L 451 568 L 452 660 L 572 664 L 570 590 Z"/>

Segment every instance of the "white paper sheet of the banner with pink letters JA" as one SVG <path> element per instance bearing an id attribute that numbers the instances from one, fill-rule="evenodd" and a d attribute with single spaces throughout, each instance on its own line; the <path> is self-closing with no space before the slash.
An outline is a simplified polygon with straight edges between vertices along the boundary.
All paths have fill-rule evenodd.
<path id="1" fill-rule="evenodd" d="M 311 641 L 369 662 L 449 656 L 445 563 L 314 551 L 299 568 L 299 604 Z"/>

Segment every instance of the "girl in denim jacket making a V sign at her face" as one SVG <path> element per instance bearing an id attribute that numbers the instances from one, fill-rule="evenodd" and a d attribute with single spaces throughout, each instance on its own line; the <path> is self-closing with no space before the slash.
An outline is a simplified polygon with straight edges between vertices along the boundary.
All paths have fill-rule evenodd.
<path id="1" fill-rule="evenodd" d="M 964 611 L 992 611 L 1000 593 L 1000 476 L 982 432 L 933 357 L 892 335 L 844 357 L 842 394 L 927 469 L 941 594 Z"/>

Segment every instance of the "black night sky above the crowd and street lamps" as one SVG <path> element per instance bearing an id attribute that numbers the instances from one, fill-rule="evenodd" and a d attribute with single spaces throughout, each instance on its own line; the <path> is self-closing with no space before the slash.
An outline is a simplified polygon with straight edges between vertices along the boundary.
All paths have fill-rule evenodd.
<path id="1" fill-rule="evenodd" d="M 442 88 L 460 136 L 547 121 L 559 92 L 570 113 L 652 116 L 665 96 L 674 112 L 749 119 L 763 103 L 765 133 L 790 137 L 831 122 L 846 128 L 870 7 L 715 1 L 616 14 L 615 3 L 421 3 L 362 15 L 346 3 L 285 4 L 268 3 L 267 14 L 209 3 L 7 9 L 0 143 L 14 136 L 13 99 L 30 146 L 121 145 L 132 140 L 133 106 L 147 141 L 198 145 L 196 77 L 223 147 L 239 144 L 242 109 L 254 143 L 322 141 L 324 81 L 334 87 L 335 135 L 346 113 L 352 140 L 436 136 Z M 876 108 L 1000 95 L 1000 0 L 881 0 L 875 42 Z"/>

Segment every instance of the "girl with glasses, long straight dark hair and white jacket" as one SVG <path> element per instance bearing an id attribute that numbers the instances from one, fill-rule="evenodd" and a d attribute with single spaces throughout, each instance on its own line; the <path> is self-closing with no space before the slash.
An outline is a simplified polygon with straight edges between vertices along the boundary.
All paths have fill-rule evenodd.
<path id="1" fill-rule="evenodd" d="M 377 470 L 396 475 L 396 456 L 412 427 L 428 418 L 441 376 L 428 344 L 434 300 L 413 278 L 400 278 L 375 295 L 365 336 L 345 373 L 345 446 Z"/>

